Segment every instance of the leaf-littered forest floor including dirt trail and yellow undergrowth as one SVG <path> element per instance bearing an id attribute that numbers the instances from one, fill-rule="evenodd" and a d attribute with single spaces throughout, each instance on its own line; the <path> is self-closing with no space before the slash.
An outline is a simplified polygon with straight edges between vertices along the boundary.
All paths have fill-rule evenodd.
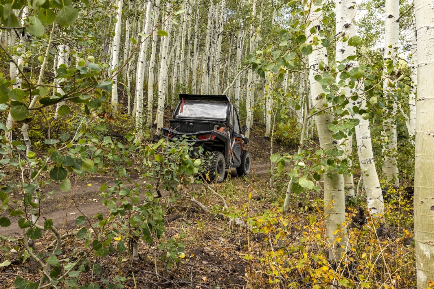
<path id="1" fill-rule="evenodd" d="M 351 276 L 342 273 L 336 276 L 330 273 L 334 269 L 323 257 L 327 250 L 321 192 L 294 198 L 288 216 L 283 219 L 278 208 L 283 204 L 289 178 L 283 174 L 270 186 L 270 141 L 262 137 L 260 129 L 253 130 L 248 146 L 253 156 L 252 175 L 238 177 L 233 169 L 224 182 L 212 184 L 211 187 L 226 200 L 233 213 L 231 218 L 240 217 L 244 221 L 252 218 L 256 226 L 262 228 L 260 233 L 254 233 L 252 227 L 221 218 L 212 210 L 213 207 L 221 208 L 221 199 L 207 192 L 202 185 L 191 185 L 184 192 L 184 198 L 171 206 L 167 206 L 168 196 L 163 192 L 159 204 L 164 209 L 166 231 L 157 242 L 167 242 L 171 238 L 184 242 L 185 257 L 168 270 L 161 261 L 162 251 L 158 249 L 158 244 L 148 245 L 143 241 L 138 246 L 141 257 L 138 262 L 133 262 L 127 252 L 117 250 L 105 258 L 92 255 L 91 262 L 101 265 L 101 272 L 89 270 L 81 273 L 78 283 L 89 286 L 82 288 L 106 288 L 104 280 L 118 284 L 117 288 L 128 289 L 314 288 L 313 280 L 331 283 L 336 278 L 340 278 L 339 284 L 342 280 L 349 281 L 345 286 L 317 288 L 414 288 L 412 210 L 408 207 L 408 200 L 405 204 L 402 201 L 388 202 L 386 211 L 390 214 L 386 216 L 386 221 L 394 224 L 383 230 L 386 237 L 377 236 L 380 231 L 375 226 L 379 224 L 374 223 L 350 231 L 353 251 L 349 263 L 355 271 L 349 273 Z M 285 149 L 275 143 L 273 153 L 276 152 L 284 153 Z M 137 172 L 129 172 L 129 175 L 132 183 L 143 182 Z M 97 213 L 108 215 L 107 208 L 101 204 L 99 188 L 104 183 L 113 185 L 114 179 L 94 174 L 71 179 L 71 183 L 71 192 L 60 191 L 58 184 L 44 188 L 46 193 L 55 192 L 47 195 L 49 197 L 41 205 L 39 218 L 53 219 L 61 234 L 79 230 L 81 226 L 76 225 L 76 218 L 80 215 L 85 215 L 92 222 Z M 395 191 L 393 194 L 401 193 Z M 192 203 L 191 195 L 210 208 L 210 212 L 204 212 Z M 347 220 L 351 221 L 356 211 L 355 207 L 348 208 Z M 12 254 L 8 257 L 11 261 L 9 266 L 0 264 L 0 288 L 5 289 L 15 288 L 13 280 L 16 276 L 34 281 L 40 276 L 39 265 L 32 258 L 23 262 L 18 257 L 23 250 L 20 245 L 23 231 L 18 227 L 17 219 L 11 218 L 11 222 L 9 227 L 0 227 L 0 235 L 15 238 L 15 241 L 4 242 L 2 246 L 15 246 L 18 251 L 16 256 Z M 286 250 L 275 250 L 271 238 L 279 234 L 279 223 L 282 222 L 288 222 L 284 236 L 288 247 Z M 404 234 L 407 230 L 410 233 Z M 33 244 L 34 252 L 45 250 L 53 240 L 52 234 L 39 238 Z M 78 250 L 83 250 L 77 250 L 83 248 L 83 242 L 75 237 L 66 237 L 58 258 L 76 258 L 80 254 Z M 3 259 L 0 256 L 0 260 Z M 273 283 L 276 280 L 279 283 Z"/>

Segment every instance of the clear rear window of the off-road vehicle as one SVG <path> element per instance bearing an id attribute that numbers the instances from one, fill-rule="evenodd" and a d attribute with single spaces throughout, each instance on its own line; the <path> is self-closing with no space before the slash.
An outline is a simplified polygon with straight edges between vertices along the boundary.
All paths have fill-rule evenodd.
<path id="1" fill-rule="evenodd" d="M 182 100 L 176 117 L 226 119 L 226 111 L 226 102 Z"/>

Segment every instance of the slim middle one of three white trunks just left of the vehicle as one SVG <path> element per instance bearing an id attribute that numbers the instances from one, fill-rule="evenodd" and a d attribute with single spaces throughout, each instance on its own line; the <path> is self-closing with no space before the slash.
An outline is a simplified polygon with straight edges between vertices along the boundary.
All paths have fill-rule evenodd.
<path id="1" fill-rule="evenodd" d="M 155 0 L 154 6 L 154 27 L 158 25 L 158 15 L 160 13 L 160 0 Z M 148 71 L 148 115 L 146 124 L 152 125 L 152 103 L 154 102 L 154 71 L 155 71 L 155 54 L 157 53 L 157 33 L 152 35 L 151 58 L 149 59 Z"/>

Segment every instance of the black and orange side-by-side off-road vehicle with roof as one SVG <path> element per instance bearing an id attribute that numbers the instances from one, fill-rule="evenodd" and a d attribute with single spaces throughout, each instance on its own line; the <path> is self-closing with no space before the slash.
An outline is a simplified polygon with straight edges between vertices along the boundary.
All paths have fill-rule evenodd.
<path id="1" fill-rule="evenodd" d="M 170 126 L 161 129 L 169 140 L 187 137 L 195 148 L 209 152 L 210 181 L 224 180 L 225 171 L 237 168 L 238 175 L 249 175 L 250 153 L 246 126 L 240 127 L 237 110 L 226 95 L 180 94 Z"/>

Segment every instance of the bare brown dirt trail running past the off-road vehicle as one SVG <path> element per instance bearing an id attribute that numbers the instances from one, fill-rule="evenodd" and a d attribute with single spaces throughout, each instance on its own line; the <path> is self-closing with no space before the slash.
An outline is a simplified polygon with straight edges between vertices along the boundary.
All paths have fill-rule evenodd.
<path id="1" fill-rule="evenodd" d="M 265 175 L 269 171 L 268 162 L 264 159 L 253 161 L 252 171 L 254 175 Z M 228 174 L 229 175 L 229 174 Z M 237 178 L 235 169 L 231 170 L 230 179 Z M 138 177 L 132 178 L 132 182 L 138 181 Z M 75 219 L 80 215 L 85 215 L 89 219 L 97 213 L 108 213 L 107 208 L 101 204 L 99 188 L 102 184 L 114 185 L 114 179 L 105 176 L 95 176 L 88 180 L 78 180 L 72 184 L 71 192 L 62 192 L 59 187 L 45 189 L 45 192 L 56 190 L 51 197 L 47 197 L 41 206 L 39 224 L 43 224 L 45 219 L 53 219 L 54 225 L 58 229 L 75 228 Z M 11 218 L 9 227 L 0 227 L 0 235 L 6 234 L 8 237 L 20 237 L 23 230 L 18 226 L 20 217 Z"/>

